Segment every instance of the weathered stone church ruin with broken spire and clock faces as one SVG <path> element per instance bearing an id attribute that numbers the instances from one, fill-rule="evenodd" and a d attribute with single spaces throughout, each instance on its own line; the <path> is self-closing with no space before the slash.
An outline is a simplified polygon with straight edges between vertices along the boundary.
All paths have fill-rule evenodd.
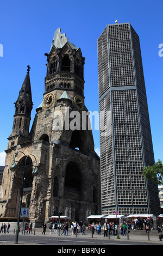
<path id="1" fill-rule="evenodd" d="M 43 101 L 36 109 L 29 133 L 32 94 L 29 67 L 15 102 L 12 133 L 6 150 L 0 202 L 1 217 L 17 217 L 23 163 L 28 165 L 23 190 L 23 206 L 29 207 L 33 223 L 48 221 L 61 211 L 72 221 L 101 214 L 99 157 L 94 151 L 89 112 L 84 105 L 84 58 L 60 29 L 54 34 L 47 56 Z M 84 114 L 84 115 L 83 115 Z M 17 170 L 10 165 L 17 153 Z M 32 176 L 35 158 L 39 174 Z M 30 166 L 29 166 L 30 165 Z"/>

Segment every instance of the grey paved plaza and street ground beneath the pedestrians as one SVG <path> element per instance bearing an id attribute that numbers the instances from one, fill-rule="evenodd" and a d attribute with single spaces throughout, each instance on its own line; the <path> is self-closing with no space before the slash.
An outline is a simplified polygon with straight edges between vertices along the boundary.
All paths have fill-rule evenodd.
<path id="1" fill-rule="evenodd" d="M 86 231 L 85 235 L 82 235 L 82 233 L 78 233 L 77 236 L 75 234 L 71 234 L 71 231 L 68 232 L 68 235 L 61 235 L 59 234 L 54 234 L 53 232 L 50 234 L 49 233 L 49 229 L 47 229 L 45 235 L 42 234 L 41 229 L 39 230 L 35 230 L 35 235 L 34 235 L 34 231 L 33 234 L 22 234 L 22 232 L 20 232 L 19 236 L 18 236 L 18 245 L 46 245 L 46 243 L 48 243 L 49 241 L 54 241 L 57 240 L 58 242 L 67 242 L 67 245 L 77 245 L 79 242 L 82 243 L 83 245 L 87 245 L 89 243 L 92 243 L 92 245 L 96 246 L 99 245 L 99 243 L 102 243 L 103 245 L 108 245 L 108 242 L 116 242 L 117 245 L 120 245 L 120 243 L 122 243 L 123 245 L 127 245 L 128 242 L 130 242 L 130 244 L 135 245 L 135 242 L 142 243 L 142 245 L 144 245 L 146 243 L 146 245 L 150 244 L 150 245 L 163 245 L 163 240 L 160 241 L 159 240 L 159 234 L 156 233 L 156 231 L 151 233 L 149 232 L 149 236 L 146 233 L 145 230 L 141 230 L 141 234 L 139 234 L 139 230 L 132 230 L 131 234 L 129 233 L 129 235 L 127 236 L 123 236 L 121 234 L 119 234 L 120 239 L 117 239 L 117 235 L 112 236 L 110 235 L 109 237 L 104 237 L 103 235 L 103 231 L 101 233 L 101 235 L 97 235 L 97 233 L 91 234 L 91 231 Z M 11 239 L 12 237 L 12 239 Z M 39 238 L 39 240 L 37 239 Z M 119 243 L 118 243 L 119 242 Z M 11 230 L 10 233 L 4 234 L 1 233 L 0 234 L 0 245 L 14 245 L 14 233 Z"/>

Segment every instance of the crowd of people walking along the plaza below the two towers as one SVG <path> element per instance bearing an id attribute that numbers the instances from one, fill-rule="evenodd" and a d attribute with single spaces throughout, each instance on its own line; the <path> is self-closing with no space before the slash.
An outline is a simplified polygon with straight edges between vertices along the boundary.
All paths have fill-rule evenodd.
<path id="1" fill-rule="evenodd" d="M 21 228 L 21 224 L 20 227 Z M 32 233 L 32 228 L 33 228 L 33 223 L 30 223 L 29 225 L 26 223 L 25 227 L 24 227 L 24 233 L 25 234 L 30 234 Z M 42 234 L 46 233 L 46 228 L 47 228 L 47 224 L 44 223 L 42 225 L 43 231 Z M 86 231 L 86 225 L 80 221 L 79 223 L 77 221 L 72 222 L 71 224 L 68 224 L 68 221 L 66 221 L 65 223 L 57 223 L 57 221 L 55 221 L 55 223 L 50 222 L 49 223 L 49 232 L 50 234 L 52 233 L 52 229 L 54 229 L 53 233 L 57 234 L 58 229 L 60 229 L 61 231 L 61 235 L 68 235 L 68 231 L 71 230 L 71 234 L 78 234 L 79 232 L 82 233 L 83 235 L 85 235 L 85 231 Z M 118 229 L 120 230 L 120 234 L 121 235 L 126 235 L 127 234 L 127 230 L 130 229 L 137 229 L 137 230 L 146 230 L 146 232 L 149 232 L 150 230 L 154 229 L 154 225 L 153 225 L 153 219 L 150 217 L 144 218 L 144 219 L 140 219 L 140 218 L 134 218 L 133 221 L 126 223 L 126 221 L 120 222 L 120 225 L 117 227 L 117 224 L 115 224 L 115 222 L 108 222 L 105 221 L 103 227 L 101 227 L 101 222 L 93 222 L 92 224 L 88 224 L 87 225 L 87 230 L 91 230 L 92 234 L 95 234 L 95 232 L 97 233 L 97 235 L 100 235 L 102 230 L 103 230 L 103 235 L 104 236 L 108 236 L 108 235 L 117 235 L 118 234 Z M 1 224 L 0 227 L 0 233 L 9 233 L 10 230 L 10 223 L 8 224 Z M 158 233 L 162 233 L 163 230 L 163 224 L 162 225 L 158 225 L 157 227 L 157 231 Z M 20 231 L 20 229 L 19 229 Z M 33 234 L 33 233 L 32 233 Z"/>

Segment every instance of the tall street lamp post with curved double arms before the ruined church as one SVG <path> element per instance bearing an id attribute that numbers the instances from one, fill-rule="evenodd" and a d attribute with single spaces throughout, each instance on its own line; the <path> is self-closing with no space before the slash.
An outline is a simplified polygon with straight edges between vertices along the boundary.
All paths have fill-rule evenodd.
<path id="1" fill-rule="evenodd" d="M 24 156 L 26 156 L 22 151 L 18 151 L 17 153 L 15 153 L 15 156 L 14 156 L 14 160 L 10 166 L 10 170 L 11 172 L 15 172 L 16 168 L 17 168 L 17 165 L 15 162 L 17 163 L 21 163 L 21 162 L 18 162 L 15 160 L 15 157 L 18 153 L 22 153 Z M 28 164 L 27 165 L 27 159 L 29 156 L 33 156 L 35 158 L 35 161 L 36 161 L 36 157 L 32 154 L 26 156 L 26 160 L 25 160 L 25 164 L 24 164 L 24 170 L 23 170 L 23 179 L 22 179 L 22 187 L 21 187 L 21 193 L 20 193 L 20 205 L 19 205 L 19 209 L 18 209 L 18 218 L 17 218 L 17 228 L 16 228 L 16 235 L 15 235 L 15 243 L 17 243 L 18 241 L 18 232 L 19 232 L 19 223 L 20 223 L 20 215 L 21 215 L 21 207 L 22 207 L 22 198 L 23 198 L 23 188 L 24 188 L 24 180 L 25 180 L 25 177 L 26 177 L 26 170 L 27 170 L 27 167 L 28 166 L 33 166 L 35 167 L 33 169 L 33 172 L 32 172 L 32 175 L 33 176 L 36 176 L 38 174 L 38 168 L 36 167 L 36 165 L 34 166 L 33 164 Z M 22 166 L 23 166 L 23 163 L 21 163 Z M 36 164 L 37 164 L 37 161 L 36 161 Z"/>

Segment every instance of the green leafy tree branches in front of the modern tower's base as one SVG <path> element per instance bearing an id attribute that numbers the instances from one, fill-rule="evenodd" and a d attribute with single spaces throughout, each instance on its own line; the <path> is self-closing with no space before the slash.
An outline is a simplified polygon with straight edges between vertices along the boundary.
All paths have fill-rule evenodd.
<path id="1" fill-rule="evenodd" d="M 163 164 L 161 160 L 154 163 L 153 166 L 147 166 L 143 168 L 143 175 L 145 178 L 153 179 L 157 185 L 163 185 Z"/>

